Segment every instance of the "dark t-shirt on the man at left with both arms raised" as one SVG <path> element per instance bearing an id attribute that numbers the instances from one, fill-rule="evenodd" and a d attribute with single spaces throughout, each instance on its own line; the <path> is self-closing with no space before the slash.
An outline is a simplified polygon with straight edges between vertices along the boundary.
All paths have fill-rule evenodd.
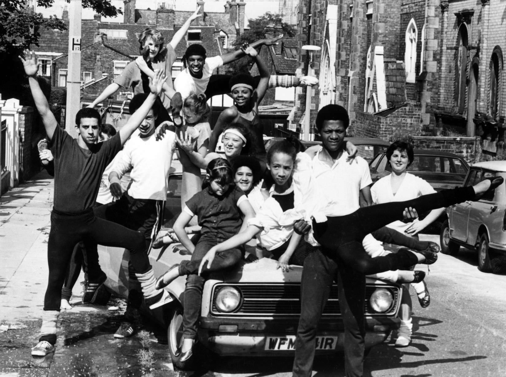
<path id="1" fill-rule="evenodd" d="M 57 127 L 49 147 L 55 162 L 54 209 L 74 214 L 91 208 L 102 173 L 121 150 L 119 133 L 96 144 L 93 150 L 87 150 L 79 147 L 76 139 Z"/>

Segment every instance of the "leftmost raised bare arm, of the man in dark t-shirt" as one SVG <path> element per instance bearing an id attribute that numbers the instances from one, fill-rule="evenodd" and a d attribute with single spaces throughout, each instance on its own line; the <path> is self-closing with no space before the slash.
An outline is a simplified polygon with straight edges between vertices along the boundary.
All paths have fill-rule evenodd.
<path id="1" fill-rule="evenodd" d="M 33 101 L 35 102 L 35 107 L 42 118 L 48 139 L 51 140 L 58 127 L 58 122 L 49 108 L 48 100 L 40 89 L 37 81 L 38 63 L 35 57 L 35 51 L 30 53 L 30 50 L 25 50 L 23 53 L 24 55 L 19 56 L 19 59 L 23 62 L 25 73 L 28 76 L 28 83 L 30 85 Z"/>

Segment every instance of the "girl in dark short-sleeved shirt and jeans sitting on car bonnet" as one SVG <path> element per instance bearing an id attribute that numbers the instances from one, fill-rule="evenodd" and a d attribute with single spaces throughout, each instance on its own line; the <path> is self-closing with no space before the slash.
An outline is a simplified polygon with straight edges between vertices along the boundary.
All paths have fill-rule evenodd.
<path id="1" fill-rule="evenodd" d="M 192 253 L 191 260 L 172 266 L 156 280 L 155 286 L 163 288 L 178 276 L 188 275 L 183 303 L 184 329 L 180 362 L 185 362 L 192 355 L 202 289 L 209 272 L 233 267 L 244 257 L 242 247 L 231 247 L 218 254 L 212 265 L 209 263 L 199 271 L 200 261 L 211 247 L 242 230 L 242 216 L 244 224 L 255 216 L 246 195 L 233 181 L 232 167 L 226 159 L 217 158 L 209 162 L 202 191 L 186 202 L 183 212 L 174 224 L 174 232 L 179 241 Z M 202 227 L 196 245 L 193 245 L 184 230 L 194 215 L 197 216 L 198 225 Z"/>

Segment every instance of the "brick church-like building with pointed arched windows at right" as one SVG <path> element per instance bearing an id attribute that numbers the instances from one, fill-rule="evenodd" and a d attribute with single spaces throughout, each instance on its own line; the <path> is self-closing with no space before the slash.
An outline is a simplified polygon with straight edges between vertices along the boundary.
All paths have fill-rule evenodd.
<path id="1" fill-rule="evenodd" d="M 403 136 L 481 136 L 501 154 L 504 95 L 499 0 L 301 0 L 299 48 L 315 45 L 320 78 L 311 119 L 327 103 L 345 106 L 350 133 L 386 140 Z M 299 63 L 308 70 L 309 54 Z M 305 113 L 305 89 L 296 98 Z M 500 143 L 499 143 L 500 144 Z"/>

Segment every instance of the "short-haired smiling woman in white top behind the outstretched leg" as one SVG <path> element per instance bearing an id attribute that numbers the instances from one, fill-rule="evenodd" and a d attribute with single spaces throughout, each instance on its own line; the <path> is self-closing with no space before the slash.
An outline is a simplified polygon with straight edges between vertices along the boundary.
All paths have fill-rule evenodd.
<path id="1" fill-rule="evenodd" d="M 387 177 L 383 177 L 371 187 L 372 200 L 375 203 L 381 204 L 391 201 L 404 201 L 436 192 L 427 181 L 407 172 L 408 166 L 411 165 L 414 159 L 414 152 L 411 144 L 403 141 L 396 141 L 387 149 L 386 154 L 392 173 Z M 401 233 L 417 237 L 417 234 L 421 230 L 436 220 L 443 212 L 444 208 L 438 208 L 432 210 L 424 220 L 416 219 L 411 223 L 394 221 L 387 226 Z M 428 307 L 430 304 L 430 296 L 425 281 L 411 285 L 413 285 L 418 295 L 418 301 L 421 307 Z M 411 341 L 411 310 L 412 302 L 411 296 L 409 295 L 409 285 L 405 285 L 401 300 L 401 327 L 399 329 L 399 337 L 395 344 L 396 347 L 407 347 Z"/>

